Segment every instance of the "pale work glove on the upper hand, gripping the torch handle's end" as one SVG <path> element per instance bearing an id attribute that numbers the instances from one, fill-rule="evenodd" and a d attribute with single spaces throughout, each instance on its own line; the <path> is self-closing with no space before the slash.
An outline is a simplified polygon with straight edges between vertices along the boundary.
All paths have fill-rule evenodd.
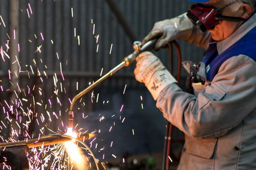
<path id="1" fill-rule="evenodd" d="M 192 34 L 192 30 L 193 23 L 190 22 L 186 14 L 182 14 L 173 19 L 156 22 L 153 29 L 142 41 L 142 44 L 157 38 L 154 49 L 159 50 L 175 39 L 187 40 Z"/>

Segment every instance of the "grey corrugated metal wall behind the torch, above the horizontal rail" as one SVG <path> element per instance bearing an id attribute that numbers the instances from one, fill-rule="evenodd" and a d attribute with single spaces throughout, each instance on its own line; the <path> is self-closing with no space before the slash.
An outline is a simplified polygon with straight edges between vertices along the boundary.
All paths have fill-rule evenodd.
<path id="1" fill-rule="evenodd" d="M 142 40 L 158 20 L 178 16 L 190 6 L 190 3 L 185 0 L 171 2 L 167 0 L 119 0 L 114 2 L 125 16 L 137 40 Z M 28 3 L 33 14 L 30 13 Z M 4 47 L 8 38 L 6 35 L 8 1 L 1 1 L 1 4 L 1 16 L 7 24 L 5 28 L 1 25 L 1 46 Z M 61 62 L 63 71 L 87 72 L 91 74 L 91 77 L 95 77 L 101 73 L 102 68 L 103 73 L 106 73 L 119 64 L 124 56 L 133 52 L 132 42 L 125 35 L 107 2 L 103 0 L 20 1 L 19 22 L 20 62 L 23 68 L 36 59 L 40 70 L 59 72 Z M 78 44 L 78 37 L 80 37 L 80 44 Z M 98 37 L 98 42 L 96 42 L 96 37 Z M 187 46 L 184 42 L 180 44 L 184 59 L 195 58 L 199 61 L 196 47 Z M 38 47 L 41 52 L 35 52 Z M 59 59 L 57 59 L 57 53 Z M 166 54 L 167 52 L 163 50 L 157 53 L 164 62 L 168 60 Z M 43 62 L 40 62 L 40 59 Z M 1 70 L 3 68 L 6 66 L 2 66 Z M 125 73 L 127 76 L 132 76 L 133 69 L 134 64 L 120 70 L 117 74 Z M 123 76 L 122 78 L 116 77 L 116 79 L 126 78 Z M 111 85 L 121 85 L 114 82 Z"/>

